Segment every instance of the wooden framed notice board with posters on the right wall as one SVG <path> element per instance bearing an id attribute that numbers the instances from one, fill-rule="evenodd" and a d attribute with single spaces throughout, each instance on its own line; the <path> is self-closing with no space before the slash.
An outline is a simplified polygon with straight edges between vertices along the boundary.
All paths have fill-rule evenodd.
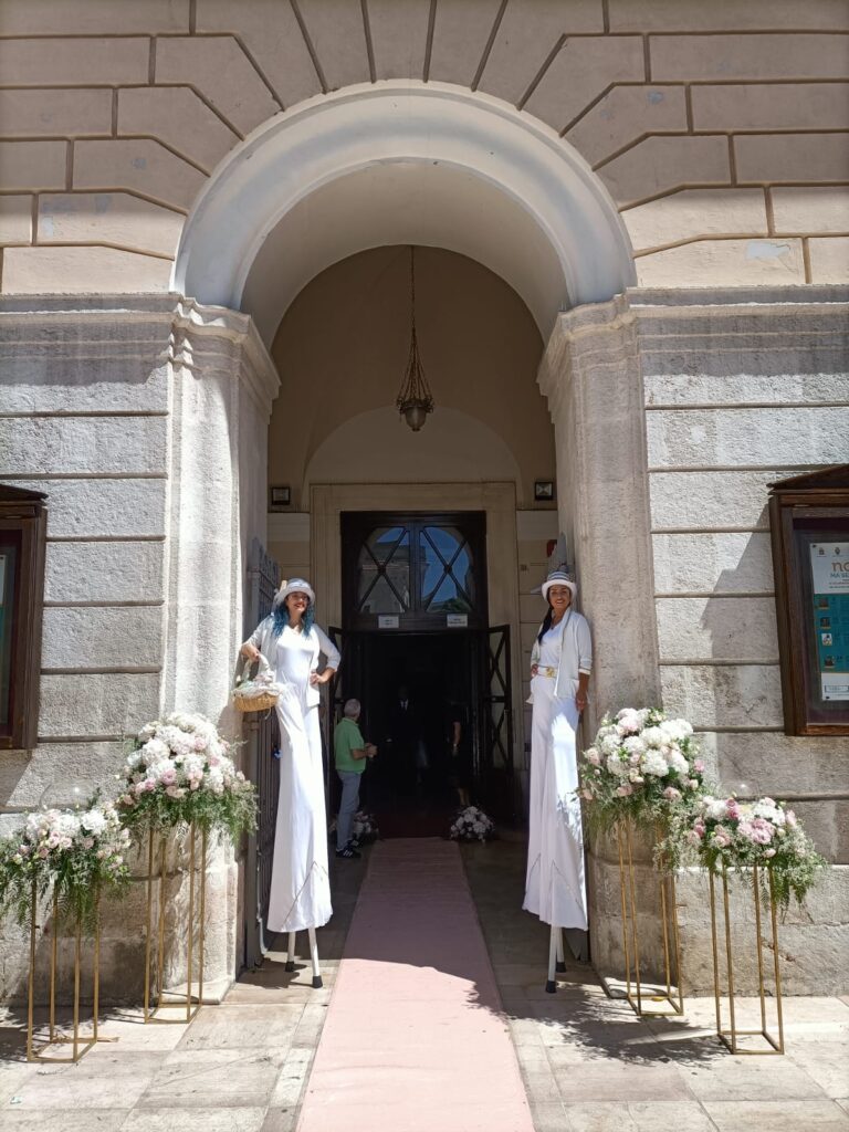
<path id="1" fill-rule="evenodd" d="M 849 464 L 773 483 L 784 731 L 849 735 Z"/>

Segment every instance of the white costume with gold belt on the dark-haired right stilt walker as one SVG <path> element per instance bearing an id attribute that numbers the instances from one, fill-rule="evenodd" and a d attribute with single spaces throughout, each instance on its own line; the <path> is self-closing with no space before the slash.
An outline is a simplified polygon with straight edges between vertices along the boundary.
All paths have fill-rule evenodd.
<path id="1" fill-rule="evenodd" d="M 575 732 L 578 674 L 592 666 L 590 626 L 569 608 L 535 641 L 531 663 L 531 813 L 522 907 L 554 927 L 586 931 L 586 886 Z"/>

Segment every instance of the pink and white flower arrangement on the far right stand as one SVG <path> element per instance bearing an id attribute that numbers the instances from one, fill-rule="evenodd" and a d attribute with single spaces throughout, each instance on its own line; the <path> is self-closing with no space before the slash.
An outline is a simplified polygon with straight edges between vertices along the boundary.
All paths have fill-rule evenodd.
<path id="1" fill-rule="evenodd" d="M 801 903 L 825 867 L 792 809 L 772 798 L 738 801 L 704 795 L 687 840 L 712 873 L 723 866 L 758 866 L 763 877 L 771 875 L 775 903 L 782 909 L 790 897 Z"/>

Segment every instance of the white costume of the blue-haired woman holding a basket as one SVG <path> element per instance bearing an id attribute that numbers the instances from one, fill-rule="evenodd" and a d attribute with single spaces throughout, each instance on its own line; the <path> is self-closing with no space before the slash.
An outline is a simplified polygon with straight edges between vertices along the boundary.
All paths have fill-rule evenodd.
<path id="1" fill-rule="evenodd" d="M 317 625 L 308 634 L 286 625 L 278 637 L 273 629 L 274 617 L 266 617 L 249 637 L 283 688 L 277 701 L 280 800 L 268 931 L 300 932 L 320 927 L 333 915 L 318 723 L 320 694 L 309 677 L 318 668 L 320 653 L 334 669 L 340 654 Z"/>

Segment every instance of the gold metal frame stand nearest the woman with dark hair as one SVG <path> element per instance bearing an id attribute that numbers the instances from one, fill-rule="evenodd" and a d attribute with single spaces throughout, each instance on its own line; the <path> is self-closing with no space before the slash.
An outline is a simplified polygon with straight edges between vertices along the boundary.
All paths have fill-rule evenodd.
<path id="1" fill-rule="evenodd" d="M 662 831 L 655 829 L 655 840 Z M 640 928 L 637 924 L 636 882 L 634 878 L 634 827 L 632 822 L 619 822 L 616 827 L 619 851 L 619 894 L 621 899 L 621 937 L 625 954 L 625 997 L 641 1018 L 662 1018 L 684 1013 L 681 989 L 681 944 L 678 928 L 678 903 L 675 874 L 658 876 L 661 931 L 663 933 L 662 990 L 643 990 L 641 971 Z M 675 971 L 672 971 L 675 967 Z M 652 1005 L 646 1005 L 646 1001 Z M 663 1005 L 661 1005 L 663 1004 Z"/>

